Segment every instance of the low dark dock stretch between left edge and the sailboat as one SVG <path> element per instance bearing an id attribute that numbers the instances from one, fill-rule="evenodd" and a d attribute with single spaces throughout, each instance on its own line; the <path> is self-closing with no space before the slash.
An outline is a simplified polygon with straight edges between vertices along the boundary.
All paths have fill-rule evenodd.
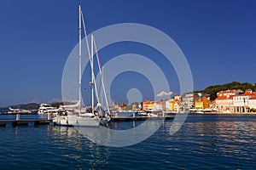
<path id="1" fill-rule="evenodd" d="M 49 119 L 20 119 L 20 120 L 0 120 L 0 126 L 4 127 L 12 127 L 12 126 L 19 126 L 19 125 L 27 125 L 27 126 L 34 126 L 34 125 L 44 125 L 49 124 L 52 120 Z"/>

